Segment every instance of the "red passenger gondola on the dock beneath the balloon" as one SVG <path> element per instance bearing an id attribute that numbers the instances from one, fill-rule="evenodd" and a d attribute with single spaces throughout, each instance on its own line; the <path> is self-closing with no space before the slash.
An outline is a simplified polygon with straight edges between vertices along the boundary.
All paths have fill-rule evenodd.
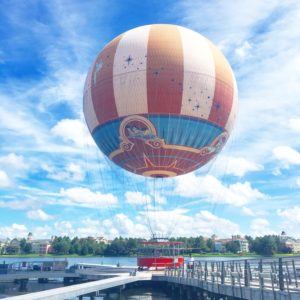
<path id="1" fill-rule="evenodd" d="M 142 242 L 138 251 L 137 265 L 139 269 L 164 269 L 180 267 L 184 264 L 181 256 L 183 242 L 149 241 Z"/>

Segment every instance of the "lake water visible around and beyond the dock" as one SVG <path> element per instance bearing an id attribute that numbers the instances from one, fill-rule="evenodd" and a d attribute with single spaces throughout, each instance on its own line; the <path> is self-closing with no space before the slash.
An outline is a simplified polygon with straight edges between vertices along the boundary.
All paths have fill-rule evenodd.
<path id="1" fill-rule="evenodd" d="M 104 264 L 104 265 L 117 265 L 120 266 L 136 266 L 137 259 L 136 257 L 18 257 L 18 258 L 1 258 L 0 263 L 18 263 L 18 262 L 37 262 L 37 261 L 53 261 L 53 260 L 67 260 L 68 266 L 72 266 L 77 263 L 91 263 L 91 264 Z M 236 259 L 245 259 L 243 257 L 201 257 L 196 258 L 195 260 L 236 260 Z M 250 257 L 247 257 L 250 259 Z M 62 287 L 63 283 L 61 282 L 49 282 L 49 283 L 37 283 L 36 281 L 29 281 L 27 284 L 27 293 L 37 292 L 42 290 L 47 290 L 51 288 Z M 8 296 L 21 295 L 24 292 L 19 291 L 19 285 L 14 283 L 0 283 L 0 298 L 5 298 Z M 112 298 L 109 297 L 97 297 L 99 300 L 101 299 L 115 299 L 115 300 L 170 300 L 174 298 L 169 298 L 164 291 L 153 288 L 145 288 L 145 289 L 131 289 L 125 290 L 121 295 L 111 295 Z M 76 299 L 76 298 L 74 298 Z M 78 299 L 78 298 L 77 298 Z M 87 299 L 87 298 L 86 298 Z M 98 300 L 97 299 L 97 300 Z"/>

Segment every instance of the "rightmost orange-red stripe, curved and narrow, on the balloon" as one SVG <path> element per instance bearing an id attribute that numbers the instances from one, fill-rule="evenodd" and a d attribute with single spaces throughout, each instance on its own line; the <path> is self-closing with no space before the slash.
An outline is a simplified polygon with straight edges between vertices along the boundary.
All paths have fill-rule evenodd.
<path id="1" fill-rule="evenodd" d="M 231 68 L 224 55 L 208 41 L 215 61 L 215 93 L 208 120 L 224 127 L 229 118 L 234 94 Z"/>

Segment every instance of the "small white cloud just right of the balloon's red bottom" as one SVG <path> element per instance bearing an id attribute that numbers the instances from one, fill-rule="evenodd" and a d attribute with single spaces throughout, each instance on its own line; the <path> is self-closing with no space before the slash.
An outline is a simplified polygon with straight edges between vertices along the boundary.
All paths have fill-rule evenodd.
<path id="1" fill-rule="evenodd" d="M 225 173 L 243 177 L 247 172 L 261 171 L 263 169 L 262 165 L 251 162 L 243 157 L 229 157 Z"/>

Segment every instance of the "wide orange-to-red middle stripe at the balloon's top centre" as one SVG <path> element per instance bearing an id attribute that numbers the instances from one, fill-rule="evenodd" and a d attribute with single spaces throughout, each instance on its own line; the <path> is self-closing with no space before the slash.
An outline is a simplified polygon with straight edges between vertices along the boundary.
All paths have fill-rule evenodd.
<path id="1" fill-rule="evenodd" d="M 183 48 L 178 28 L 152 25 L 147 49 L 148 113 L 180 113 L 183 69 Z"/>

